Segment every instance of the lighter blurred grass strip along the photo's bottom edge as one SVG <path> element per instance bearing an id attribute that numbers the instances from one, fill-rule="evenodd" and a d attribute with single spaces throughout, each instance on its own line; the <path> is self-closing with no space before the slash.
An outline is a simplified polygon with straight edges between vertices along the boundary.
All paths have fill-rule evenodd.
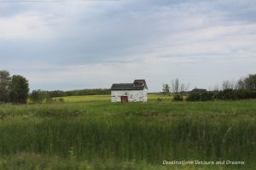
<path id="1" fill-rule="evenodd" d="M 117 161 L 113 159 L 101 160 L 96 158 L 93 161 L 77 161 L 70 156 L 63 159 L 58 156 L 42 156 L 35 153 L 20 153 L 14 156 L 4 156 L 0 158 L 0 169 L 3 170 L 223 170 L 223 169 L 243 169 L 239 166 L 221 167 L 221 166 L 166 166 L 152 165 L 145 161 Z"/>

